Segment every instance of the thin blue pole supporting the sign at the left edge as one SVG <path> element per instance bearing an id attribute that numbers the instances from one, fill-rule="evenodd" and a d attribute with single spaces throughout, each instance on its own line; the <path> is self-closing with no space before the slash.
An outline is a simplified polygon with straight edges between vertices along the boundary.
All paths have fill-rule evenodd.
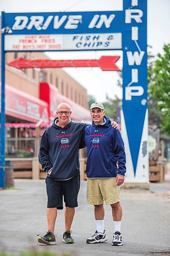
<path id="1" fill-rule="evenodd" d="M 4 28 L 4 12 L 1 26 Z M 5 33 L 1 34 L 1 166 L 0 187 L 5 188 Z"/>

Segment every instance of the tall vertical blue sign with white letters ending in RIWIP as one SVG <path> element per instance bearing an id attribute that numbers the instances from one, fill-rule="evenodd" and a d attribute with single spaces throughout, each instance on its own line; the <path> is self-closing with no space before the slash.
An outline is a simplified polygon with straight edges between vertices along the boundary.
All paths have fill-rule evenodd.
<path id="1" fill-rule="evenodd" d="M 124 0 L 122 135 L 126 182 L 149 182 L 147 0 Z"/>

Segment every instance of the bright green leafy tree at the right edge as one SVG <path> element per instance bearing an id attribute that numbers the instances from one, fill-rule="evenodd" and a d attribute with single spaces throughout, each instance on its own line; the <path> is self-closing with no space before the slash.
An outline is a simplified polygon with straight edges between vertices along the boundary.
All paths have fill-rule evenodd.
<path id="1" fill-rule="evenodd" d="M 155 67 L 148 71 L 149 94 L 157 100 L 157 110 L 161 111 L 161 130 L 170 134 L 170 44 L 164 45 L 163 50 Z"/>

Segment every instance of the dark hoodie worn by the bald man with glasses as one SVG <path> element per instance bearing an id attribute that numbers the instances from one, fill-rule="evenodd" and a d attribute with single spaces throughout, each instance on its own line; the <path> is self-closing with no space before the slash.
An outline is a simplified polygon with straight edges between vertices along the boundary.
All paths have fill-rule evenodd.
<path id="1" fill-rule="evenodd" d="M 63 128 L 54 120 L 41 138 L 39 162 L 45 172 L 52 169 L 48 177 L 67 180 L 80 174 L 79 148 L 85 147 L 84 131 L 86 123 L 69 122 Z"/>

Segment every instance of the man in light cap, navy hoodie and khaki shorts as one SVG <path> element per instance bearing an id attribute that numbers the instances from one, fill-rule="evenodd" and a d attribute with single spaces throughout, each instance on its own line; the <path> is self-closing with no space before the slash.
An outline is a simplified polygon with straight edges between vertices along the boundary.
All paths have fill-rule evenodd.
<path id="1" fill-rule="evenodd" d="M 108 239 L 104 230 L 103 203 L 111 205 L 114 222 L 112 245 L 123 245 L 120 224 L 122 207 L 119 185 L 124 183 L 126 155 L 120 132 L 110 125 L 104 106 L 94 102 L 90 106 L 92 124 L 86 127 L 87 146 L 87 203 L 94 205 L 96 231 L 86 240 L 87 244 L 102 243 Z"/>

